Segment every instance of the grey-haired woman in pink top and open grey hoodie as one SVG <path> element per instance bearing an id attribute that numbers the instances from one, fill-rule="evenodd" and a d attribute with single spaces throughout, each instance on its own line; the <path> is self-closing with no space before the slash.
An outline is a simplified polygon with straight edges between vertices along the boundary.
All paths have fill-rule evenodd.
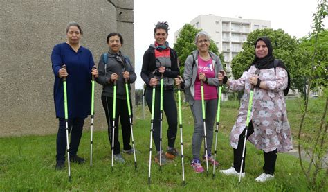
<path id="1" fill-rule="evenodd" d="M 204 135 L 203 114 L 201 107 L 201 81 L 203 82 L 203 93 L 206 113 L 206 143 L 207 159 L 210 164 L 217 166 L 219 163 L 212 159 L 211 148 L 213 140 L 213 125 L 217 113 L 217 86 L 218 73 L 223 71 L 219 57 L 209 51 L 210 36 L 205 31 L 197 33 L 195 37 L 197 50 L 192 52 L 185 60 L 185 71 L 183 73 L 186 101 L 189 101 L 194 116 L 194 134 L 192 135 L 192 162 L 191 166 L 196 173 L 204 171 L 201 166 L 200 151 Z M 179 81 L 179 82 L 177 82 Z M 176 78 L 179 84 L 180 78 Z M 205 151 L 203 159 L 206 160 Z"/>

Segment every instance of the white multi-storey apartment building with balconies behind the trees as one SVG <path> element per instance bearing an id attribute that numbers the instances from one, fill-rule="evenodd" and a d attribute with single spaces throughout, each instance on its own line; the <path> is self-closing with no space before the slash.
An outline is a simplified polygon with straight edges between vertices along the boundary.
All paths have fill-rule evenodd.
<path id="1" fill-rule="evenodd" d="M 231 71 L 231 60 L 242 51 L 242 44 L 248 34 L 259 28 L 270 28 L 271 21 L 258 19 L 228 18 L 216 15 L 199 15 L 190 21 L 195 28 L 205 30 L 217 45 L 219 52 L 224 54 L 226 71 Z M 174 33 L 174 42 L 179 37 L 180 30 Z"/>

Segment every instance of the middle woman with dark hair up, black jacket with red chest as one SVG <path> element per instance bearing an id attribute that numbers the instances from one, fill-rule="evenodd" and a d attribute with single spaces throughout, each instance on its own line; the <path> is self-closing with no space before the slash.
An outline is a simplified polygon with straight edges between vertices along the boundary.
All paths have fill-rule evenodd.
<path id="1" fill-rule="evenodd" d="M 161 155 L 162 164 L 165 164 L 166 157 L 174 159 L 179 152 L 174 148 L 177 132 L 177 110 L 174 98 L 174 78 L 179 75 L 178 56 L 176 51 L 169 47 L 166 41 L 169 25 L 167 22 L 158 22 L 154 28 L 154 44 L 151 44 L 143 55 L 143 67 L 141 68 L 141 78 L 146 83 L 145 98 L 149 110 L 152 110 L 152 89 L 156 86 L 153 138 L 157 151 L 155 162 L 159 162 Z M 163 110 L 167 119 L 167 151 L 165 155 L 160 148 L 160 79 L 163 75 Z"/>

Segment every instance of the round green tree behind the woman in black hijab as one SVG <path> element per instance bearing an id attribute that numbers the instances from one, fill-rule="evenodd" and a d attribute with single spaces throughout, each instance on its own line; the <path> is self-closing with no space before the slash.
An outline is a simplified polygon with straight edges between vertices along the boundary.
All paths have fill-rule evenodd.
<path id="1" fill-rule="evenodd" d="M 299 73 L 298 69 L 304 66 L 304 50 L 300 49 L 298 40 L 291 37 L 284 30 L 273 30 L 271 28 L 264 28 L 261 30 L 254 30 L 247 37 L 247 41 L 243 44 L 244 51 L 238 53 L 232 61 L 232 73 L 234 78 L 239 78 L 242 73 L 246 71 L 254 60 L 255 55 L 255 41 L 257 38 L 266 36 L 269 37 L 273 46 L 273 55 L 284 62 L 286 68 L 291 76 L 291 89 L 298 89 L 304 91 L 304 76 Z"/>

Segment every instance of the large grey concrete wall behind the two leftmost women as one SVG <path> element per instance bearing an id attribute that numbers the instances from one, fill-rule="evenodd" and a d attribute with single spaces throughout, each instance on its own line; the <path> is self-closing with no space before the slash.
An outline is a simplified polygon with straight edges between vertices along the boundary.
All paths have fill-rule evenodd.
<path id="1" fill-rule="evenodd" d="M 106 37 L 122 33 L 122 51 L 134 61 L 133 0 L 0 1 L 0 137 L 53 134 L 57 119 L 53 103 L 51 51 L 66 41 L 66 24 L 77 21 L 81 44 L 98 65 L 108 50 Z M 96 85 L 95 130 L 107 127 Z M 89 129 L 89 119 L 84 128 Z"/>

